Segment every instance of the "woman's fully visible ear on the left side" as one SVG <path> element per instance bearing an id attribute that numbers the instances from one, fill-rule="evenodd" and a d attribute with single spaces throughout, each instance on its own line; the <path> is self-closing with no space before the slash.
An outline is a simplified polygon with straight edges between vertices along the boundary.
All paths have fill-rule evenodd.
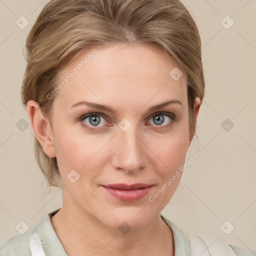
<path id="1" fill-rule="evenodd" d="M 35 100 L 29 100 L 26 107 L 35 137 L 41 144 L 44 152 L 49 157 L 55 157 L 56 153 L 49 120 L 42 115 L 39 103 Z"/>

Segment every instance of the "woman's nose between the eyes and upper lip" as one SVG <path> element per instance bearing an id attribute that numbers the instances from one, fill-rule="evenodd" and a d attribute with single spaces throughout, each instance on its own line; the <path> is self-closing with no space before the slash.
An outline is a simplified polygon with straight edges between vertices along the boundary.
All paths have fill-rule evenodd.
<path id="1" fill-rule="evenodd" d="M 140 171 L 146 165 L 146 146 L 141 132 L 131 126 L 117 130 L 113 138 L 112 165 L 127 173 Z"/>

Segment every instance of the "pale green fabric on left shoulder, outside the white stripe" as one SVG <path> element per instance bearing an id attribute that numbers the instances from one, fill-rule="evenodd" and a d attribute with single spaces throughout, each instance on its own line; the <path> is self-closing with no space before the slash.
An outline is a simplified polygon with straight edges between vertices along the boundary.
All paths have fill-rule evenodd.
<path id="1" fill-rule="evenodd" d="M 16 234 L 0 244 L 0 256 L 30 256 L 29 239 L 33 229 Z"/>

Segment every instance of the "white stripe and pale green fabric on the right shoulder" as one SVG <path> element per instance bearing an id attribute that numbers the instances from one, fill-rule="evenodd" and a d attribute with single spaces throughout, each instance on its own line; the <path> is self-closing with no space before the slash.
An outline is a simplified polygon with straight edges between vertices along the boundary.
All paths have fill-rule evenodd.
<path id="1" fill-rule="evenodd" d="M 225 256 L 256 256 L 256 251 L 242 249 L 232 244 L 228 244 L 217 238 L 198 235 L 189 235 L 191 256 L 202 253 L 203 255 L 225 255 Z"/>

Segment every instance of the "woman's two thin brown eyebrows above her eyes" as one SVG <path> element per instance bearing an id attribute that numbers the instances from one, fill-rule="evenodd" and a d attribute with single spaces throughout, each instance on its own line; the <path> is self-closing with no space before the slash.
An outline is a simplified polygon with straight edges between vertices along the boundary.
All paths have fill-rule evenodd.
<path id="1" fill-rule="evenodd" d="M 167 106 L 169 104 L 180 104 L 182 107 L 182 103 L 181 101 L 177 100 L 177 99 L 171 99 L 171 100 L 167 100 L 167 101 L 164 101 L 160 104 L 157 104 L 157 105 L 154 105 L 154 106 L 151 106 L 148 108 L 149 111 L 153 111 L 153 110 L 156 110 L 156 109 L 159 109 L 159 108 L 162 108 L 164 106 Z M 101 110 L 105 110 L 107 112 L 111 112 L 113 114 L 116 113 L 116 110 L 114 110 L 111 106 L 108 106 L 108 105 L 101 105 L 101 104 L 97 104 L 97 103 L 93 103 L 93 102 L 89 102 L 89 101 L 79 101 L 73 105 L 71 105 L 70 108 L 72 107 L 75 107 L 75 106 L 78 106 L 78 105 L 87 105 L 87 106 L 90 106 L 90 107 L 93 107 L 93 108 L 97 108 L 97 109 L 101 109 Z"/>

